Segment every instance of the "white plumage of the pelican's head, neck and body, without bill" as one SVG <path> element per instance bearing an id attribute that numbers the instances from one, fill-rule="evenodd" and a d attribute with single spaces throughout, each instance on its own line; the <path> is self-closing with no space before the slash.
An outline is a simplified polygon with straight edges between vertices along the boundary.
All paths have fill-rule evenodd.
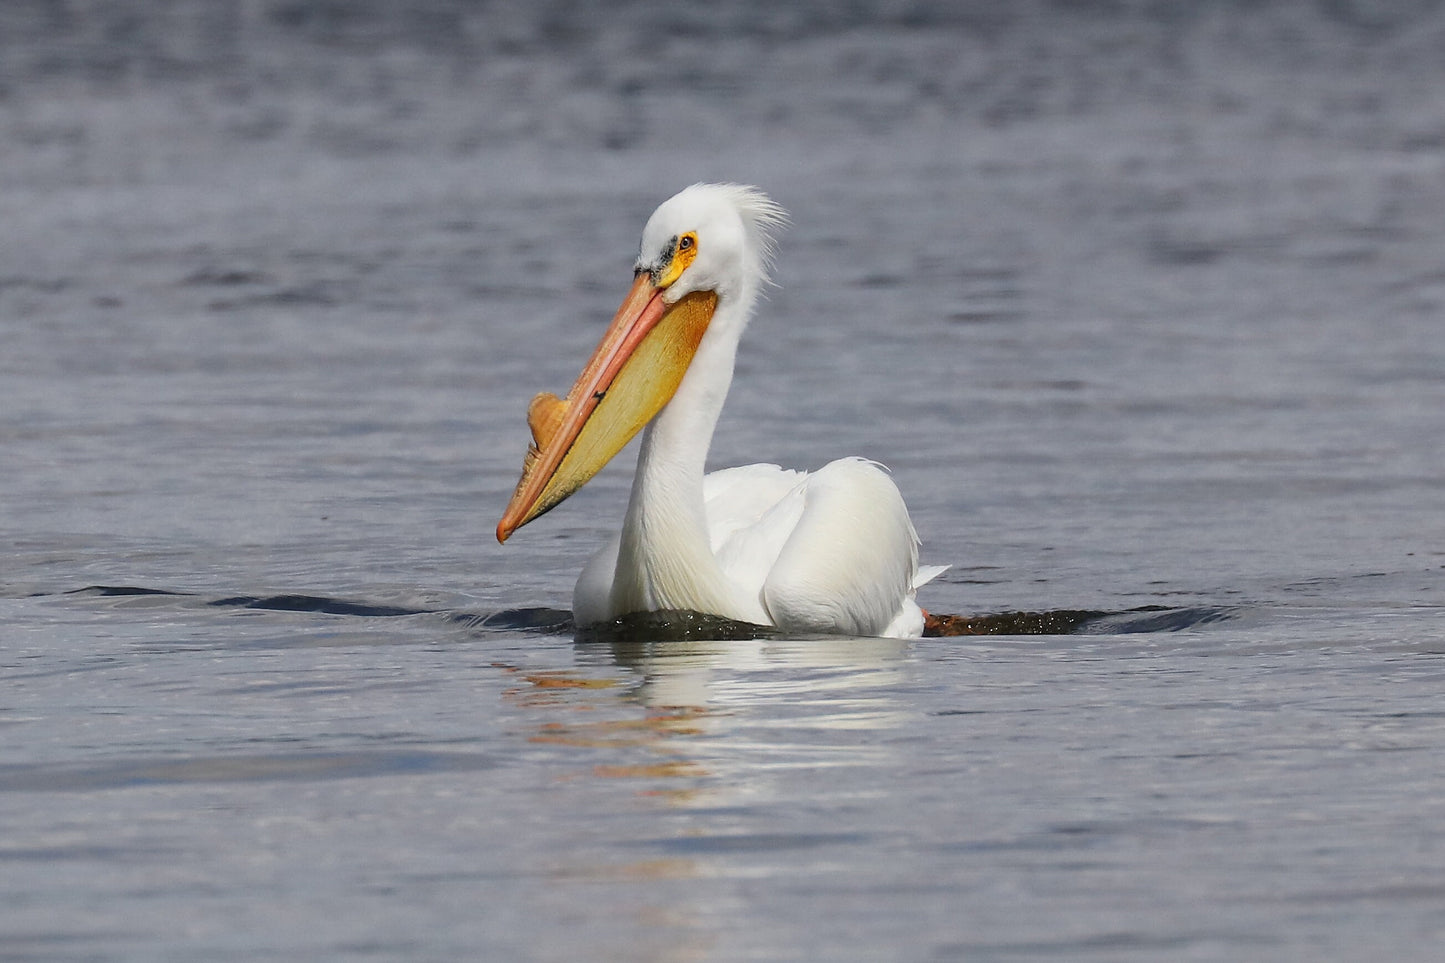
<path id="1" fill-rule="evenodd" d="M 717 307 L 646 428 L 621 531 L 577 581 L 578 625 L 694 610 L 799 633 L 922 633 L 913 593 L 942 568 L 920 573 L 918 535 L 881 466 L 841 458 L 814 473 L 770 464 L 702 473 L 738 338 L 767 281 L 772 231 L 783 223 L 762 192 L 707 184 L 647 221 L 639 283 L 662 279 L 668 305 L 714 292 Z M 681 273 L 679 252 L 691 254 Z"/>

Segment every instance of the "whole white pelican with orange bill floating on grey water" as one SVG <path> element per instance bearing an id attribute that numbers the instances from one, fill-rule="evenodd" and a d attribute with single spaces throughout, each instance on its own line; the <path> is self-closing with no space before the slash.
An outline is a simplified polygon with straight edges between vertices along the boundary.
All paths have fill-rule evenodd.
<path id="1" fill-rule="evenodd" d="M 532 399 L 533 444 L 497 541 L 587 483 L 646 427 L 621 532 L 582 570 L 579 626 L 691 610 L 786 632 L 923 632 L 918 534 L 889 474 L 750 464 L 704 476 L 712 428 L 786 214 L 762 191 L 695 184 L 642 233 L 631 291 L 566 398 Z"/>

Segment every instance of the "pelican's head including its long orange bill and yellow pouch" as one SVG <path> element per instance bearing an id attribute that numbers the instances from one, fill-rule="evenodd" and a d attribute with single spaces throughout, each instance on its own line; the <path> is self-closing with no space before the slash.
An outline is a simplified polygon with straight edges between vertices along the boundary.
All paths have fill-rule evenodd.
<path id="1" fill-rule="evenodd" d="M 741 337 L 785 221 L 762 191 L 736 184 L 694 184 L 653 211 L 631 291 L 577 383 L 566 398 L 532 399 L 532 445 L 497 541 L 621 451 L 668 405 L 705 340 Z"/>

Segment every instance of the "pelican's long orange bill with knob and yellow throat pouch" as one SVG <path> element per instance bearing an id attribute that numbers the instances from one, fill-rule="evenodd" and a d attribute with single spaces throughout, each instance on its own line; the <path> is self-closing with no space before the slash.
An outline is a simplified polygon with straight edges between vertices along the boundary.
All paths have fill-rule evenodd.
<path id="1" fill-rule="evenodd" d="M 639 275 L 566 398 L 532 399 L 532 445 L 497 523 L 499 542 L 587 484 L 678 390 L 717 295 L 698 291 L 668 304 L 662 294 Z"/>

